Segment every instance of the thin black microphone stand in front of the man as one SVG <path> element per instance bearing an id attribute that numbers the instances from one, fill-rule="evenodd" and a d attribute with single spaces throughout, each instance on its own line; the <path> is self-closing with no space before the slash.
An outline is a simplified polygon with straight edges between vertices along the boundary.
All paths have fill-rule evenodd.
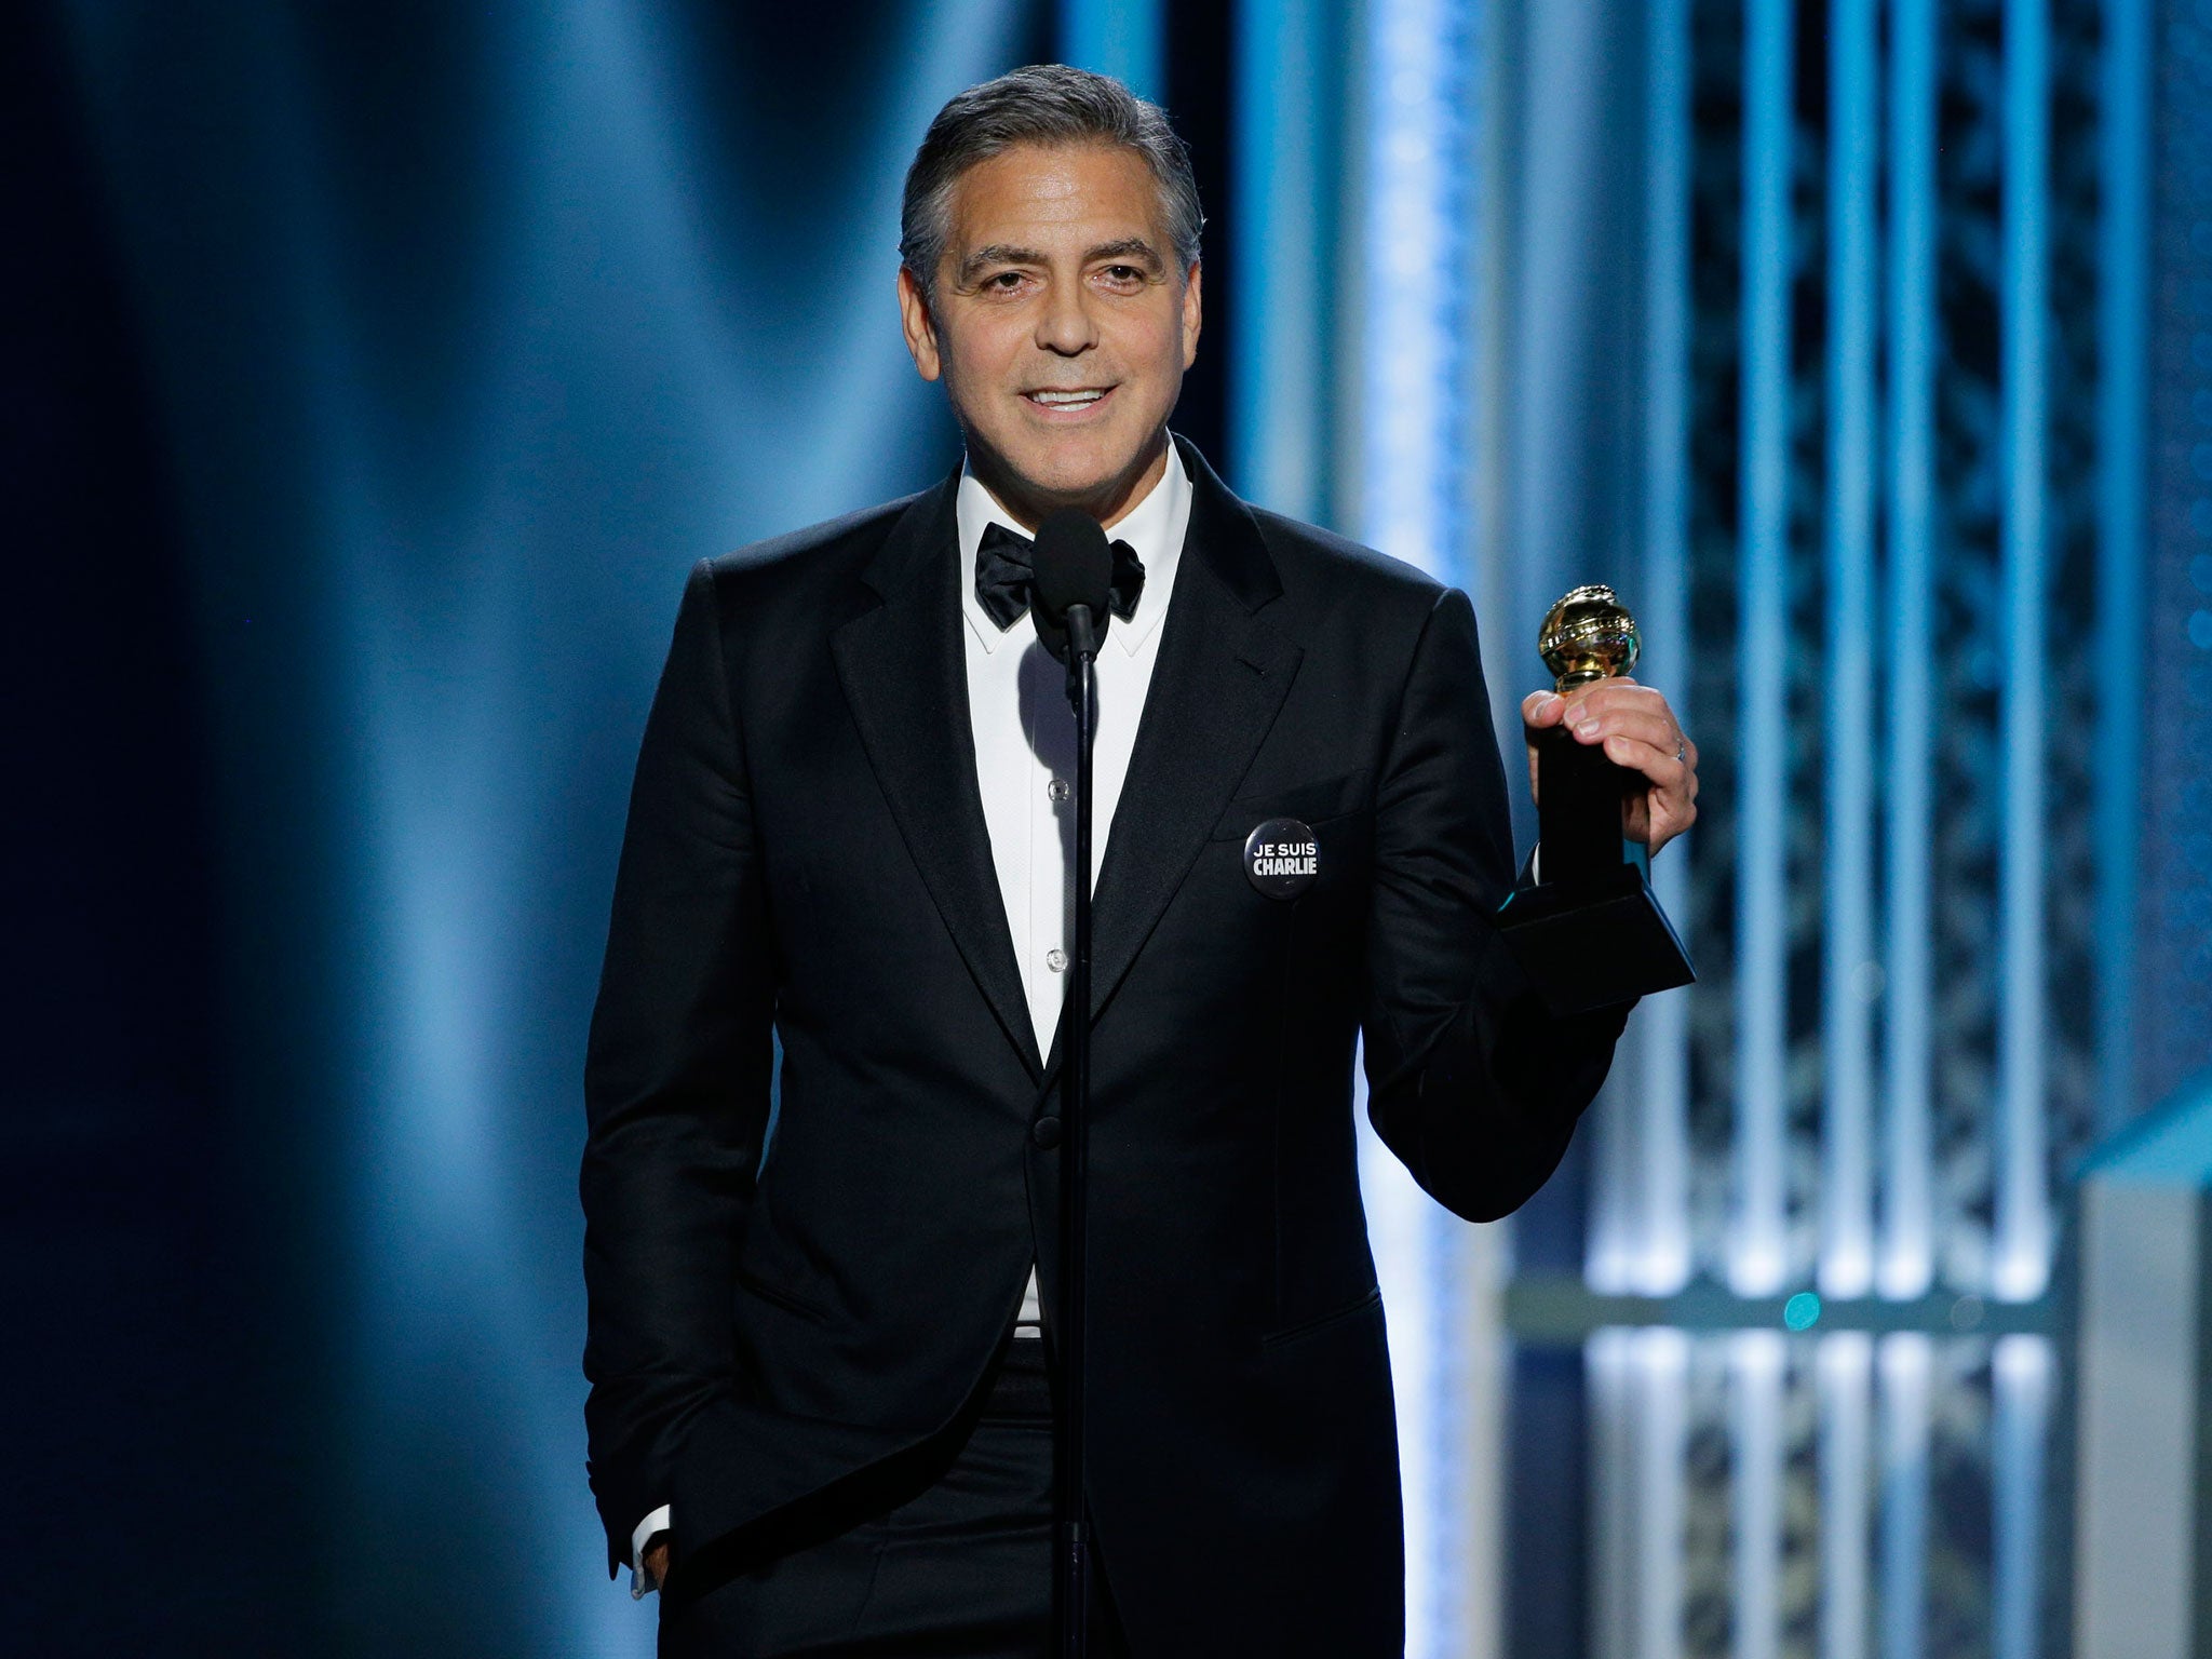
<path id="1" fill-rule="evenodd" d="M 1084 1659 L 1091 1637 L 1091 1526 L 1084 1520 L 1084 1292 L 1088 1274 L 1091 1130 L 1091 743 L 1097 737 L 1099 641 L 1091 606 L 1068 606 L 1068 706 L 1075 710 L 1075 953 L 1060 1009 L 1060 1411 L 1053 1416 L 1053 1606 L 1057 1659 Z"/>

